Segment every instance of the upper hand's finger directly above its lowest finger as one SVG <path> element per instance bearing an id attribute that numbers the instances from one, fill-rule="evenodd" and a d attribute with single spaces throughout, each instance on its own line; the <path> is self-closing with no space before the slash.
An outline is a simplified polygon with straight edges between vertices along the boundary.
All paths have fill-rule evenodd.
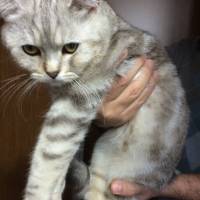
<path id="1" fill-rule="evenodd" d="M 137 78 L 115 99 L 115 104 L 120 105 L 123 109 L 130 106 L 147 87 L 153 72 L 154 63 L 148 60 L 145 66 L 138 72 L 139 75 L 136 75 Z"/>

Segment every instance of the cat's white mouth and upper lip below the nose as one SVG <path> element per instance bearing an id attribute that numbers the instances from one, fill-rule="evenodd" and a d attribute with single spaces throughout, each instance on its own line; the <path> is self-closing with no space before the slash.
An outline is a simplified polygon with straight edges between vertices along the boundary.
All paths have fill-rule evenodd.
<path id="1" fill-rule="evenodd" d="M 67 72 L 67 73 L 60 73 L 57 77 L 52 78 L 51 76 L 48 76 L 47 74 L 41 74 L 41 73 L 32 73 L 31 78 L 38 82 L 47 83 L 49 85 L 65 85 L 70 84 L 74 81 L 76 81 L 79 76 L 75 74 L 74 72 Z"/>

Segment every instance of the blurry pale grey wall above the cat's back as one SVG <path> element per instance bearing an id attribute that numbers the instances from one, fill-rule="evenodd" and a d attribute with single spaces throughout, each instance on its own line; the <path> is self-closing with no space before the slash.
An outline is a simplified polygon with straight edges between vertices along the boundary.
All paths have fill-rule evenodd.
<path id="1" fill-rule="evenodd" d="M 192 0 L 108 0 L 129 23 L 155 34 L 165 45 L 187 37 Z"/>

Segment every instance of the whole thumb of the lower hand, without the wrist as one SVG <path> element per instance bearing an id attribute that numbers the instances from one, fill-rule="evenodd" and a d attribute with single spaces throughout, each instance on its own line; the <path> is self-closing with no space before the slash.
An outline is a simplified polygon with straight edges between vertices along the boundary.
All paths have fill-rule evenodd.
<path id="1" fill-rule="evenodd" d="M 114 195 L 123 197 L 135 197 L 138 200 L 149 200 L 159 195 L 158 192 L 153 191 L 147 187 L 120 180 L 113 181 L 110 189 Z"/>

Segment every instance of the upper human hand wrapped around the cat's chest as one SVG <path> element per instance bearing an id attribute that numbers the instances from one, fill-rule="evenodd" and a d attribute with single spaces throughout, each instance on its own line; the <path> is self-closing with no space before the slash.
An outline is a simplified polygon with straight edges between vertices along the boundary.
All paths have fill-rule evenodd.
<path id="1" fill-rule="evenodd" d="M 116 77 L 97 114 L 98 124 L 108 128 L 131 120 L 153 92 L 157 80 L 154 62 L 138 58 L 126 76 Z"/>

